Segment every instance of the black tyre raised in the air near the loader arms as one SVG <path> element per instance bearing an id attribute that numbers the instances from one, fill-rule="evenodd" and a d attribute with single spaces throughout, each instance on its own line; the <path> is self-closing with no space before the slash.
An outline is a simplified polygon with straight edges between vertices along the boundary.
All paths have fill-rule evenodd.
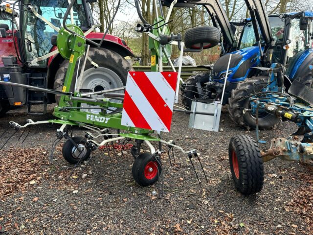
<path id="1" fill-rule="evenodd" d="M 213 26 L 200 26 L 188 29 L 184 43 L 187 48 L 198 49 L 203 43 L 203 49 L 215 47 L 221 40 L 220 30 Z"/>

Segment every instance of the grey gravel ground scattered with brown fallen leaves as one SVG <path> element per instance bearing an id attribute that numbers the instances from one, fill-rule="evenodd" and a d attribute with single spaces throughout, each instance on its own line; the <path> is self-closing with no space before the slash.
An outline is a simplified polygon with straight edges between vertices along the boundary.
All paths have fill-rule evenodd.
<path id="1" fill-rule="evenodd" d="M 52 118 L 52 106 L 45 116 L 27 116 L 25 109 L 10 111 L 0 118 L 0 133 L 8 121 Z M 218 133 L 188 129 L 189 117 L 175 113 L 170 134 L 184 149 L 197 148 L 209 183 L 198 184 L 187 156 L 176 152 L 180 166 L 170 167 L 163 156 L 164 197 L 157 199 L 151 188 L 134 183 L 133 157 L 112 157 L 97 150 L 85 170 L 84 179 L 68 180 L 72 165 L 62 157 L 62 145 L 47 158 L 58 125 L 38 125 L 22 143 L 20 135 L 0 152 L 0 233 L 7 234 L 312 234 L 312 171 L 297 162 L 274 159 L 265 163 L 265 185 L 257 195 L 245 197 L 232 183 L 228 143 L 245 134 L 226 112 Z M 276 130 L 262 131 L 266 141 L 287 137 L 296 126 L 278 123 Z M 13 133 L 7 131 L 2 145 Z M 252 136 L 254 132 L 250 133 Z M 75 136 L 83 131 L 74 129 Z M 25 136 L 25 134 L 24 134 Z M 22 139 L 22 138 L 21 138 Z M 262 145 L 266 150 L 268 145 Z M 310 195 L 308 195 L 310 194 Z M 295 202 L 297 202 L 295 206 Z M 301 210 L 299 205 L 302 205 Z M 311 206 L 311 210 L 306 208 Z"/>

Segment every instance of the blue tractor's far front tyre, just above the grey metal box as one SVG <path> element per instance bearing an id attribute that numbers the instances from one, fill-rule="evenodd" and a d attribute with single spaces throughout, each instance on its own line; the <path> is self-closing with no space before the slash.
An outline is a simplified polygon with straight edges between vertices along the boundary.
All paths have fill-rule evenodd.
<path id="1" fill-rule="evenodd" d="M 197 73 L 192 76 L 190 76 L 186 81 L 186 87 L 183 91 L 181 102 L 184 106 L 188 107 L 188 110 L 191 109 L 191 99 L 199 98 L 199 94 L 195 93 L 197 91 L 197 87 L 194 87 L 197 85 L 197 82 L 201 83 L 201 87 L 203 87 L 205 82 L 208 82 L 210 79 L 209 73 Z"/>

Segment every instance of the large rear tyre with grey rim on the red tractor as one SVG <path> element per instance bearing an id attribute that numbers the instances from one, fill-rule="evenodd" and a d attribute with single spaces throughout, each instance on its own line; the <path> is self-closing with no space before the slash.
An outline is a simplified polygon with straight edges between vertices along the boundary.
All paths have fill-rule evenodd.
<path id="1" fill-rule="evenodd" d="M 82 79 L 82 89 L 89 89 L 93 92 L 108 90 L 112 88 L 119 88 L 126 85 L 127 73 L 133 71 L 132 66 L 121 55 L 106 48 L 90 48 L 89 57 L 98 64 L 98 68 L 94 68 L 90 61 L 87 60 L 84 77 Z M 83 59 L 80 65 L 83 64 Z M 78 63 L 77 63 L 78 64 Z M 78 75 L 81 72 L 81 66 L 78 70 Z M 76 79 L 77 67 L 73 76 Z M 65 75 L 67 73 L 68 61 L 64 61 L 55 75 L 54 89 L 62 91 Z M 72 82 L 70 92 L 74 92 L 75 82 Z M 100 95 L 92 95 L 93 98 L 101 98 Z M 59 103 L 60 96 L 56 95 L 55 99 Z M 113 102 L 121 102 L 120 100 L 113 100 Z M 90 108 L 90 107 L 89 107 Z"/>

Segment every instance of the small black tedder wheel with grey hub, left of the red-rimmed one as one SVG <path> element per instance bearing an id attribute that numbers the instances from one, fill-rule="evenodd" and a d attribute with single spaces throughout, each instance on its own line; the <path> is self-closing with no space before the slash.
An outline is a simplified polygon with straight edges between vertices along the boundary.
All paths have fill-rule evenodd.
<path id="1" fill-rule="evenodd" d="M 73 141 L 76 144 L 83 144 L 85 145 L 86 143 L 86 139 L 84 139 L 83 137 L 79 137 L 79 136 L 75 136 L 72 138 Z M 83 140 L 84 139 L 84 140 Z M 89 158 L 91 150 L 89 148 L 85 148 L 84 151 L 86 151 L 86 153 L 82 153 L 81 155 L 83 156 L 79 156 L 79 158 L 76 158 L 75 156 L 73 156 L 72 154 L 72 150 L 73 148 L 75 148 L 75 146 L 73 145 L 73 143 L 69 140 L 67 140 L 64 144 L 63 144 L 63 148 L 62 148 L 62 155 L 64 157 L 64 159 L 70 163 L 70 164 L 77 164 L 78 161 L 82 158 L 82 160 L 80 160 L 80 162 L 82 163 L 83 161 L 85 161 L 86 159 Z"/>

